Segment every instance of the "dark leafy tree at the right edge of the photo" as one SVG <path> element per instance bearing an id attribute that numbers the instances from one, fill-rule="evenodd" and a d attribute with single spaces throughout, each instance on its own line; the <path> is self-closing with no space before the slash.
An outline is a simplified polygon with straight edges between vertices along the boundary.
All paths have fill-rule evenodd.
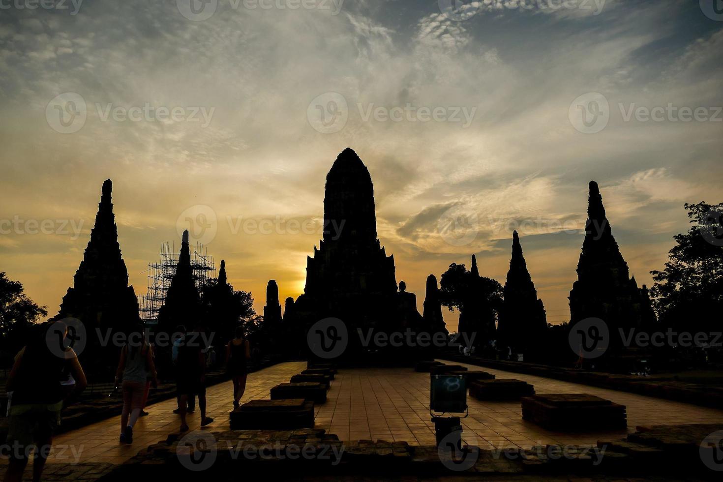
<path id="1" fill-rule="evenodd" d="M 685 204 L 688 233 L 673 236 L 662 271 L 651 271 L 651 297 L 664 327 L 719 331 L 723 310 L 723 203 Z"/>

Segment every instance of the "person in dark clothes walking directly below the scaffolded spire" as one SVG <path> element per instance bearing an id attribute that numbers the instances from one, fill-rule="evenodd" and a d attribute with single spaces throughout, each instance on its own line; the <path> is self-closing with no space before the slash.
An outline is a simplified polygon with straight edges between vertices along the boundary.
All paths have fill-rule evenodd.
<path id="1" fill-rule="evenodd" d="M 188 430 L 186 423 L 186 404 L 188 397 L 198 396 L 198 408 L 201 411 L 201 426 L 213 422 L 206 416 L 206 355 L 205 346 L 199 330 L 189 332 L 178 350 L 178 382 L 176 389 L 179 395 L 179 414 L 181 415 L 181 431 Z"/>

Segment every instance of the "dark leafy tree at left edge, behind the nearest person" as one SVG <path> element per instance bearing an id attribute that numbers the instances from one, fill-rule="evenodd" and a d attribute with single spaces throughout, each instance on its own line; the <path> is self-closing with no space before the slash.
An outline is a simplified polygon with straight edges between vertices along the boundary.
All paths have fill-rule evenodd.
<path id="1" fill-rule="evenodd" d="M 0 343 L 2 350 L 14 352 L 25 344 L 33 324 L 48 316 L 46 306 L 39 306 L 25 294 L 20 281 L 10 280 L 0 272 Z"/>

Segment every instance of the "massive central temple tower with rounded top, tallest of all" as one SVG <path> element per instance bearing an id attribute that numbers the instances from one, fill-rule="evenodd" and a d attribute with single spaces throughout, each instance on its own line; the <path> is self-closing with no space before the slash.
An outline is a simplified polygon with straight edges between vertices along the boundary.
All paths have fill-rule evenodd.
<path id="1" fill-rule="evenodd" d="M 394 257 L 377 239 L 369 170 L 347 148 L 326 177 L 323 239 L 307 259 L 307 281 L 294 303 L 294 318 L 306 329 L 321 319 L 341 319 L 350 334 L 344 358 L 364 363 L 359 356 L 369 350 L 361 346 L 357 330 L 365 335 L 368 330 L 403 331 L 406 321 L 421 319 L 410 294 L 397 292 Z"/>

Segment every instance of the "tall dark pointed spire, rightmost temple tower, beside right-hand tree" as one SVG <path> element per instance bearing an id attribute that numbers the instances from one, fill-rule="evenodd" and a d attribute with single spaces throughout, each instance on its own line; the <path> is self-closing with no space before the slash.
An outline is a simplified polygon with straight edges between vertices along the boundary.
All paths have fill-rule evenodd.
<path id="1" fill-rule="evenodd" d="M 628 263 L 612 236 L 595 181 L 590 181 L 588 220 L 578 262 L 578 280 L 570 291 L 570 326 L 587 318 L 602 319 L 612 348 L 620 347 L 619 329 L 639 329 L 643 321 L 643 295 Z"/>

